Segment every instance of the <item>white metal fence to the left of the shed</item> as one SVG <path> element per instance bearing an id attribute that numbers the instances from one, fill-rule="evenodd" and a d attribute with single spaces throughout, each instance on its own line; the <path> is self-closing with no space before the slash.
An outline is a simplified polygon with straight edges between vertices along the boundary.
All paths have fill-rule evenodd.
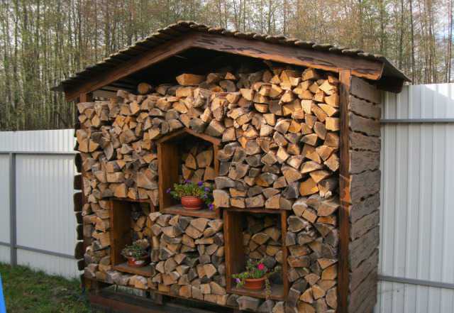
<path id="1" fill-rule="evenodd" d="M 72 129 L 0 132 L 0 152 L 16 153 L 17 263 L 67 278 L 78 274 L 72 258 L 76 242 L 73 134 Z M 6 196 L 8 170 L 9 155 L 0 153 L 0 172 L 6 174 L 0 177 L 4 187 L 0 192 Z M 8 197 L 0 201 L 0 241 L 9 243 L 10 201 Z M 0 246 L 0 260 L 10 261 L 9 247 Z"/>

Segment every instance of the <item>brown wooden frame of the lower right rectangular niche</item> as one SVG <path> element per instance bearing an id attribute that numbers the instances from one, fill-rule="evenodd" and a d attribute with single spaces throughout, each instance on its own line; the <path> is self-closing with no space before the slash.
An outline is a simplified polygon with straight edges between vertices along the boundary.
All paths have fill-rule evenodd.
<path id="1" fill-rule="evenodd" d="M 281 224 L 281 237 L 282 237 L 282 258 L 284 262 L 282 263 L 282 292 L 280 295 L 271 295 L 271 300 L 286 300 L 289 292 L 289 280 L 288 280 L 288 264 L 287 256 L 288 249 L 285 246 L 285 237 L 287 236 L 287 216 L 288 212 L 286 210 L 278 209 L 240 209 L 230 207 L 223 210 L 223 221 L 224 221 L 224 238 L 225 238 L 225 251 L 226 251 L 226 290 L 228 293 L 234 293 L 237 295 L 247 295 L 250 297 L 259 297 L 265 298 L 266 294 L 264 290 L 259 292 L 250 291 L 241 289 L 238 290 L 236 287 L 233 287 L 233 278 L 232 275 L 240 273 L 244 270 L 245 266 L 245 255 L 243 251 L 243 234 L 240 229 L 241 222 L 240 219 L 243 219 L 244 214 L 257 213 L 257 214 L 275 214 L 279 216 Z"/>

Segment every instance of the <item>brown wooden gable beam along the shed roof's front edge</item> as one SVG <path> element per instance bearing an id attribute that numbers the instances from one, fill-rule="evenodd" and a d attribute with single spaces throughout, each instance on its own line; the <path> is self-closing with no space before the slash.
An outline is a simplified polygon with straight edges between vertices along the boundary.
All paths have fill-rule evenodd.
<path id="1" fill-rule="evenodd" d="M 162 43 L 156 48 L 141 53 L 111 70 L 106 69 L 99 75 L 87 77 L 76 87 L 68 87 L 65 89 L 66 99 L 67 101 L 72 101 L 81 93 L 94 92 L 112 82 L 116 82 L 118 79 L 123 79 L 189 48 L 215 50 L 262 60 L 314 67 L 330 72 L 351 70 L 352 75 L 370 80 L 380 79 L 384 69 L 384 63 L 379 60 L 364 60 L 349 55 L 338 55 L 329 51 L 305 49 L 290 45 L 285 46 L 211 33 L 189 33 L 184 35 L 184 37 Z"/>

